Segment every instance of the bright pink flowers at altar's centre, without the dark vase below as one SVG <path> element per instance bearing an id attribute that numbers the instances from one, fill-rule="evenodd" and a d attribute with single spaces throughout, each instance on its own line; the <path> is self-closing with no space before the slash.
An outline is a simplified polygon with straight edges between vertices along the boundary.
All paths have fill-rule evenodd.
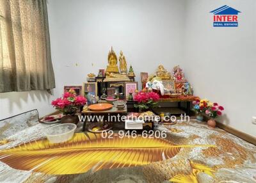
<path id="1" fill-rule="evenodd" d="M 133 99 L 138 102 L 134 107 L 139 108 L 141 111 L 151 111 L 157 107 L 159 95 L 155 92 L 138 92 L 134 95 Z"/>

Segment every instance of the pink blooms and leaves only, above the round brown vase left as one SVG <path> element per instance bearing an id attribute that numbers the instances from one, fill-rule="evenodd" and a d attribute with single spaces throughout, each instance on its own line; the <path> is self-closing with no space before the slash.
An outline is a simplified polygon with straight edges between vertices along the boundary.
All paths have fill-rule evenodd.
<path id="1" fill-rule="evenodd" d="M 52 100 L 52 106 L 63 112 L 64 115 L 73 115 L 86 103 L 83 96 L 76 96 L 76 92 L 71 88 L 56 100 Z"/>

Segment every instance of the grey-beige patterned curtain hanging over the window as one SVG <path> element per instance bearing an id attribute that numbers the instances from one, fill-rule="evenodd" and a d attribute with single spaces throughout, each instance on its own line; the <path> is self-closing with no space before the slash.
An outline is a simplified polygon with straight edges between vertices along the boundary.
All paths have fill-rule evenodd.
<path id="1" fill-rule="evenodd" d="M 55 88 L 46 0 L 0 0 L 0 92 Z"/>

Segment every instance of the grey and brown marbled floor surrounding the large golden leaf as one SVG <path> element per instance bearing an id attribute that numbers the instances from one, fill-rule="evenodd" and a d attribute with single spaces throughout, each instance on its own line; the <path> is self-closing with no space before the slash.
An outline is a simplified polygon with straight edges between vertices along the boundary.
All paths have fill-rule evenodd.
<path id="1" fill-rule="evenodd" d="M 49 125 L 35 122 L 35 113 L 15 121 L 29 125 L 17 125 L 8 120 L 0 132 L 1 150 L 15 147 L 35 139 L 44 138 Z M 34 119 L 34 120 L 33 120 Z M 24 122 L 25 120 L 25 122 Z M 33 122 L 32 122 L 33 121 Z M 22 123 L 22 124 L 23 124 Z M 12 134 L 10 128 L 15 130 Z M 19 129 L 19 127 L 18 127 Z M 0 182 L 256 182 L 256 147 L 221 129 L 209 129 L 204 122 L 178 122 L 160 126 L 156 130 L 167 131 L 168 141 L 177 145 L 216 145 L 216 147 L 184 147 L 171 159 L 143 166 L 113 168 L 72 175 L 47 175 L 34 171 L 15 170 L 1 161 Z M 77 132 L 81 132 L 79 123 Z"/>

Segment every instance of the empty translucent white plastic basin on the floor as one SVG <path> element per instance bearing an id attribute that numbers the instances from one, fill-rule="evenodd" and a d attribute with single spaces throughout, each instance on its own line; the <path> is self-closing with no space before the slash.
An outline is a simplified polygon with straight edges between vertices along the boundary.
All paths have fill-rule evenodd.
<path id="1" fill-rule="evenodd" d="M 72 138 L 75 130 L 75 124 L 64 123 L 46 129 L 45 136 L 51 143 L 61 143 Z"/>

